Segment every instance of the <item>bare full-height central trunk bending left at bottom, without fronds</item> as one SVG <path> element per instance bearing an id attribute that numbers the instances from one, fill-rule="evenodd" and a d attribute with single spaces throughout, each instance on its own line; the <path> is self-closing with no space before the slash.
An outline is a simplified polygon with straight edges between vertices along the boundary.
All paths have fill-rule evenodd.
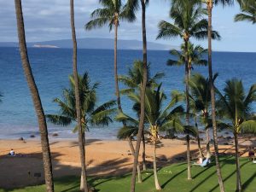
<path id="1" fill-rule="evenodd" d="M 142 26 L 143 26 L 143 86 L 141 88 L 141 114 L 139 121 L 139 130 L 137 134 L 137 143 L 136 150 L 134 155 L 133 170 L 131 176 L 131 192 L 135 192 L 135 183 L 136 183 L 136 170 L 138 163 L 138 155 L 140 151 L 140 144 L 143 135 L 143 125 L 144 125 L 144 116 L 145 116 L 145 92 L 147 85 L 148 77 L 148 68 L 147 68 L 147 36 L 146 36 L 146 5 L 144 0 L 141 0 L 142 4 Z"/>

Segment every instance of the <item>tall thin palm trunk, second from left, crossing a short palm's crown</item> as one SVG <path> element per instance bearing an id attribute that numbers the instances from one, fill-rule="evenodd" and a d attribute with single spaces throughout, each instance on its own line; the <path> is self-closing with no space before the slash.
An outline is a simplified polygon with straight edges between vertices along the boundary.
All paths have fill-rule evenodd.
<path id="1" fill-rule="evenodd" d="M 84 135 L 84 130 L 81 124 L 79 77 L 78 77 L 78 67 L 77 67 L 77 38 L 76 38 L 75 25 L 74 25 L 73 0 L 70 0 L 70 21 L 71 21 L 72 39 L 73 39 L 73 78 L 74 78 L 74 87 L 75 87 L 77 122 L 79 127 L 79 152 L 80 152 L 80 161 L 81 161 L 80 190 L 84 192 L 88 192 L 86 165 L 85 165 L 85 148 L 84 148 L 85 135 Z"/>

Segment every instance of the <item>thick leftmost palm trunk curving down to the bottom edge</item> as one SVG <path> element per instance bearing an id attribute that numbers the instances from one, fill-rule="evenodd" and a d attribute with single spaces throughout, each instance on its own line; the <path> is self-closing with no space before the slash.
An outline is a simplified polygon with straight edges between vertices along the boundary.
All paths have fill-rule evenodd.
<path id="1" fill-rule="evenodd" d="M 44 116 L 44 109 L 42 106 L 42 102 L 38 93 L 38 87 L 37 87 L 37 84 L 35 83 L 35 79 L 32 74 L 32 68 L 30 67 L 30 62 L 27 55 L 22 4 L 20 0 L 15 0 L 15 10 L 16 10 L 17 30 L 18 30 L 22 67 L 24 69 L 26 81 L 32 95 L 34 108 L 38 116 L 38 125 L 39 125 L 41 146 L 42 146 L 42 152 L 43 152 L 44 178 L 45 178 L 46 191 L 54 192 L 55 189 L 54 189 L 54 181 L 53 181 L 53 174 L 52 174 L 52 164 L 51 164 L 51 156 L 50 156 L 50 149 L 49 149 L 47 124 Z"/>

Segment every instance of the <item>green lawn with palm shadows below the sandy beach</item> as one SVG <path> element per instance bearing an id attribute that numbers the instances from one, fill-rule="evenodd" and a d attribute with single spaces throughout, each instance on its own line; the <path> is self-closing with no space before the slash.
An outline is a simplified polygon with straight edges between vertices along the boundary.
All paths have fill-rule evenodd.
<path id="1" fill-rule="evenodd" d="M 224 185 L 227 192 L 236 191 L 236 161 L 234 157 L 221 158 Z M 207 167 L 192 166 L 193 179 L 186 179 L 186 164 L 179 163 L 166 166 L 159 171 L 160 184 L 163 192 L 192 192 L 192 191 L 219 191 L 218 178 L 215 166 Z M 143 183 L 137 183 L 137 192 L 153 192 L 153 172 L 143 172 Z M 256 186 L 256 165 L 253 165 L 247 158 L 241 158 L 241 180 L 244 192 L 254 192 Z M 100 192 L 128 192 L 130 189 L 131 174 L 122 177 L 89 178 L 90 184 Z M 0 189 L 0 192 L 44 192 L 45 186 L 32 186 L 24 189 Z M 55 179 L 56 192 L 77 192 L 79 191 L 79 177 L 61 177 Z"/>

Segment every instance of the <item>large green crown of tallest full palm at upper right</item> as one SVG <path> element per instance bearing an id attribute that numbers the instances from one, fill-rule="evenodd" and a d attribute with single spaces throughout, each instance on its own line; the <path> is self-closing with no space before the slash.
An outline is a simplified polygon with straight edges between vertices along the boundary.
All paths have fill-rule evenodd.
<path id="1" fill-rule="evenodd" d="M 185 42 L 188 42 L 189 38 L 207 38 L 208 22 L 203 18 L 205 15 L 207 12 L 198 1 L 186 0 L 184 4 L 172 7 L 170 17 L 174 20 L 173 23 L 166 20 L 160 21 L 157 38 L 180 36 Z M 212 39 L 220 39 L 218 32 L 212 31 Z"/>

